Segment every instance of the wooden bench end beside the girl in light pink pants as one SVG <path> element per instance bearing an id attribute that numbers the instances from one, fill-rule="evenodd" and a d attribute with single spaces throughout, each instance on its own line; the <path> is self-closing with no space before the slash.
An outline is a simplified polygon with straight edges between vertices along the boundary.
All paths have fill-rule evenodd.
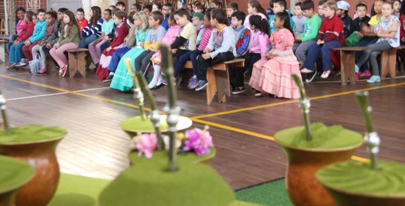
<path id="1" fill-rule="evenodd" d="M 85 53 L 88 49 L 73 49 L 66 50 L 69 56 L 69 76 L 73 78 L 76 71 L 79 71 L 82 76 L 86 76 L 86 60 Z"/>

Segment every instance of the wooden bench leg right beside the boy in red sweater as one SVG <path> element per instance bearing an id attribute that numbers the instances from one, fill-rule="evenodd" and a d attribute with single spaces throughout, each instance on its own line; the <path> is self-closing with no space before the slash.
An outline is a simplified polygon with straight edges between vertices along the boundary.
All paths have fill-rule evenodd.
<path id="1" fill-rule="evenodd" d="M 354 71 L 354 58 L 355 51 L 340 51 L 340 68 L 341 68 L 341 81 L 342 85 L 347 85 L 347 79 L 350 84 L 355 84 L 355 71 Z"/>

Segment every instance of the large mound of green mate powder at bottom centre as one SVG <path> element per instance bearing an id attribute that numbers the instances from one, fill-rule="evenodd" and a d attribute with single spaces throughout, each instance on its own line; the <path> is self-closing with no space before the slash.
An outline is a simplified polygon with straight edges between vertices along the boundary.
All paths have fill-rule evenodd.
<path id="1" fill-rule="evenodd" d="M 167 162 L 153 158 L 122 172 L 100 195 L 104 206 L 222 206 L 233 200 L 233 191 L 211 167 L 178 162 L 178 170 L 169 172 Z"/>

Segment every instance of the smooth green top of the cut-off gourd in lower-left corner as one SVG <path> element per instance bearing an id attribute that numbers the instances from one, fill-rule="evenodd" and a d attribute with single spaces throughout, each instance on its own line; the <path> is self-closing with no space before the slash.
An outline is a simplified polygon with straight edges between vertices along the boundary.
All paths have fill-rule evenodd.
<path id="1" fill-rule="evenodd" d="M 27 162 L 0 155 L 0 193 L 9 192 L 27 183 L 35 174 Z"/>

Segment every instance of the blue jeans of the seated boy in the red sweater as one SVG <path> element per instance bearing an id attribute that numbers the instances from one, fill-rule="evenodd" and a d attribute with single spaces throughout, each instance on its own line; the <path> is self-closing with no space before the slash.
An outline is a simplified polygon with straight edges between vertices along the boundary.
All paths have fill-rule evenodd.
<path id="1" fill-rule="evenodd" d="M 313 66 L 318 57 L 319 52 L 322 54 L 322 68 L 323 71 L 331 70 L 331 49 L 341 47 L 342 44 L 338 40 L 332 40 L 331 42 L 325 43 L 321 46 L 318 46 L 316 43 L 309 46 L 308 56 L 305 60 L 302 68 L 307 68 L 313 70 Z"/>

